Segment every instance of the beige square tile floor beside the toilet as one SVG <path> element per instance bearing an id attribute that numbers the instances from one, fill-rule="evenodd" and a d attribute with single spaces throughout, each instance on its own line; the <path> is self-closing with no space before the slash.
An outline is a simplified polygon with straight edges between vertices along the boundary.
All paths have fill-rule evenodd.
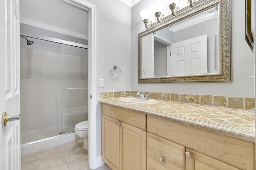
<path id="1" fill-rule="evenodd" d="M 21 157 L 21 170 L 90 170 L 83 140 L 46 148 Z M 105 164 L 96 170 L 110 170 Z"/>

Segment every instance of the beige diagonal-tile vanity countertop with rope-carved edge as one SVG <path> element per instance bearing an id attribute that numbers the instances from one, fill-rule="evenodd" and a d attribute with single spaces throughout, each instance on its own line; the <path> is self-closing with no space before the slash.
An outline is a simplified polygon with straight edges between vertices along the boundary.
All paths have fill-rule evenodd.
<path id="1" fill-rule="evenodd" d="M 255 142 L 255 113 L 239 109 L 194 105 L 158 100 L 154 104 L 119 102 L 118 98 L 100 99 L 102 104 L 170 119 L 234 138 Z"/>

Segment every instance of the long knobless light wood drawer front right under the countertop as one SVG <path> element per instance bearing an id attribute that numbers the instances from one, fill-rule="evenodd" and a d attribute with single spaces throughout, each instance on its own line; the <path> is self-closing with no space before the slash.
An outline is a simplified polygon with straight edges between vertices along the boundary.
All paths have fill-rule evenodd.
<path id="1" fill-rule="evenodd" d="M 243 170 L 254 169 L 254 143 L 148 116 L 147 131 Z"/>

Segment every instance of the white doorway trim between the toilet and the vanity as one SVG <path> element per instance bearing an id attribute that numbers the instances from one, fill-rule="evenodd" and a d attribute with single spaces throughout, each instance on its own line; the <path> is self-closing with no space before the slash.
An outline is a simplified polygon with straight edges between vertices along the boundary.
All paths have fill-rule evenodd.
<path id="1" fill-rule="evenodd" d="M 97 157 L 96 5 L 86 0 L 63 1 L 88 11 L 88 163 L 91 169 L 96 169 L 105 164 L 101 156 Z"/>

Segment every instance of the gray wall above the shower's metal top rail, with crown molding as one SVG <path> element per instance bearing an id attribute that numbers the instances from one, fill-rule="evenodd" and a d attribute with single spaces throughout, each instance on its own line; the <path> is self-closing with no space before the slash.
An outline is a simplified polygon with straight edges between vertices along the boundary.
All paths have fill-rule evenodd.
<path id="1" fill-rule="evenodd" d="M 87 36 L 87 22 L 81 22 L 81 18 L 87 19 L 87 12 L 79 8 L 70 8 L 68 3 L 63 2 L 61 0 L 20 0 L 20 18 Z"/>

